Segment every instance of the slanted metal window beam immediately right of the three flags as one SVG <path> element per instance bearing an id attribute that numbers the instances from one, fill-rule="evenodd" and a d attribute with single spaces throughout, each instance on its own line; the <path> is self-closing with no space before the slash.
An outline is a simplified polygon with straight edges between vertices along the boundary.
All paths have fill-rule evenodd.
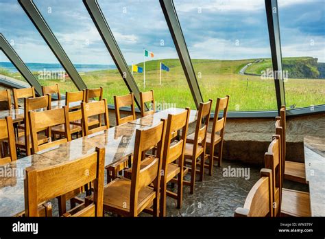
<path id="1" fill-rule="evenodd" d="M 159 0 L 159 2 L 168 25 L 171 38 L 173 38 L 173 43 L 176 47 L 178 58 L 180 59 L 180 62 L 182 64 L 187 83 L 189 84 L 189 88 L 191 89 L 195 106 L 197 107 L 197 109 L 199 109 L 200 103 L 204 102 L 204 100 L 202 97 L 200 86 L 197 82 L 195 71 L 192 65 L 192 60 L 189 55 L 189 50 L 186 46 L 182 27 L 180 26 L 180 21 L 178 21 L 176 9 L 173 5 L 173 0 Z"/>

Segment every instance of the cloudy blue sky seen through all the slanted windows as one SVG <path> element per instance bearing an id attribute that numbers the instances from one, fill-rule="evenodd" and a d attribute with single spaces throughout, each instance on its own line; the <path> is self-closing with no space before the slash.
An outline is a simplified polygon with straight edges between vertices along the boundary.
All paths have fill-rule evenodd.
<path id="1" fill-rule="evenodd" d="M 108 64 L 110 57 L 82 0 L 34 0 L 74 64 Z M 270 57 L 264 0 L 174 0 L 191 58 Z M 99 0 L 128 64 L 178 58 L 158 0 Z M 282 56 L 325 62 L 325 0 L 278 0 Z M 0 32 L 24 62 L 58 63 L 17 0 L 0 0 Z M 147 58 L 146 60 L 149 60 Z M 8 59 L 0 54 L 0 61 Z"/>

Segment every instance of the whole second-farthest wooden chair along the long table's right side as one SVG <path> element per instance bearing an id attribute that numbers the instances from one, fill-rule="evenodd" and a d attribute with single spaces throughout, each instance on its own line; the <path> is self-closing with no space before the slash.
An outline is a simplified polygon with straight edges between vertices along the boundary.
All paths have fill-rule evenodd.
<path id="1" fill-rule="evenodd" d="M 212 100 L 206 103 L 200 103 L 200 108 L 197 114 L 197 122 L 195 126 L 194 140 L 192 144 L 187 142 L 185 145 L 184 152 L 184 174 L 191 171 L 191 181 L 184 181 L 184 185 L 189 185 L 191 187 L 190 194 L 194 192 L 195 186 L 195 174 L 200 173 L 200 181 L 203 181 L 204 176 L 204 163 L 205 163 L 205 151 L 206 151 L 206 133 L 208 131 L 208 122 L 210 118 Z M 204 124 L 202 121 L 204 120 Z M 200 157 L 200 159 L 199 159 Z M 190 164 L 191 168 L 187 168 L 186 165 Z M 197 171 L 196 166 L 200 164 L 200 171 Z"/>

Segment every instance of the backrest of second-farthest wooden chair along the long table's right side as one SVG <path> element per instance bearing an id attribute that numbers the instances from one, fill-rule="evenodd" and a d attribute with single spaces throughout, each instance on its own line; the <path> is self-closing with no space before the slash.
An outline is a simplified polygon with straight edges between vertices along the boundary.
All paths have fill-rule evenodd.
<path id="1" fill-rule="evenodd" d="M 197 122 L 195 126 L 195 135 L 193 141 L 193 155 L 196 155 L 197 147 L 199 144 L 205 147 L 206 144 L 206 133 L 208 132 L 208 122 L 210 120 L 212 100 L 206 103 L 200 103 L 199 111 L 197 113 Z M 202 121 L 204 123 L 202 124 Z"/>

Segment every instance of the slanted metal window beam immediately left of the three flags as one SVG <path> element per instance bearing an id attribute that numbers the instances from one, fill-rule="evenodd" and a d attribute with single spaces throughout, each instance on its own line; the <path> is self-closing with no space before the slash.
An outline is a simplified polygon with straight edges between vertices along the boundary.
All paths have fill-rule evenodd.
<path id="1" fill-rule="evenodd" d="M 110 30 L 110 26 L 108 25 L 97 0 L 83 0 L 83 2 L 89 15 L 91 16 L 91 19 L 93 19 L 93 23 L 95 24 L 102 40 L 104 41 L 108 52 L 110 52 L 112 60 L 114 60 L 117 69 L 119 69 L 119 73 L 121 74 L 126 86 L 130 92 L 134 93 L 136 104 L 140 109 L 141 104 L 139 87 L 137 86 L 128 64 L 125 61 L 121 50 L 119 49 L 117 41 L 115 41 L 115 37 Z"/>

